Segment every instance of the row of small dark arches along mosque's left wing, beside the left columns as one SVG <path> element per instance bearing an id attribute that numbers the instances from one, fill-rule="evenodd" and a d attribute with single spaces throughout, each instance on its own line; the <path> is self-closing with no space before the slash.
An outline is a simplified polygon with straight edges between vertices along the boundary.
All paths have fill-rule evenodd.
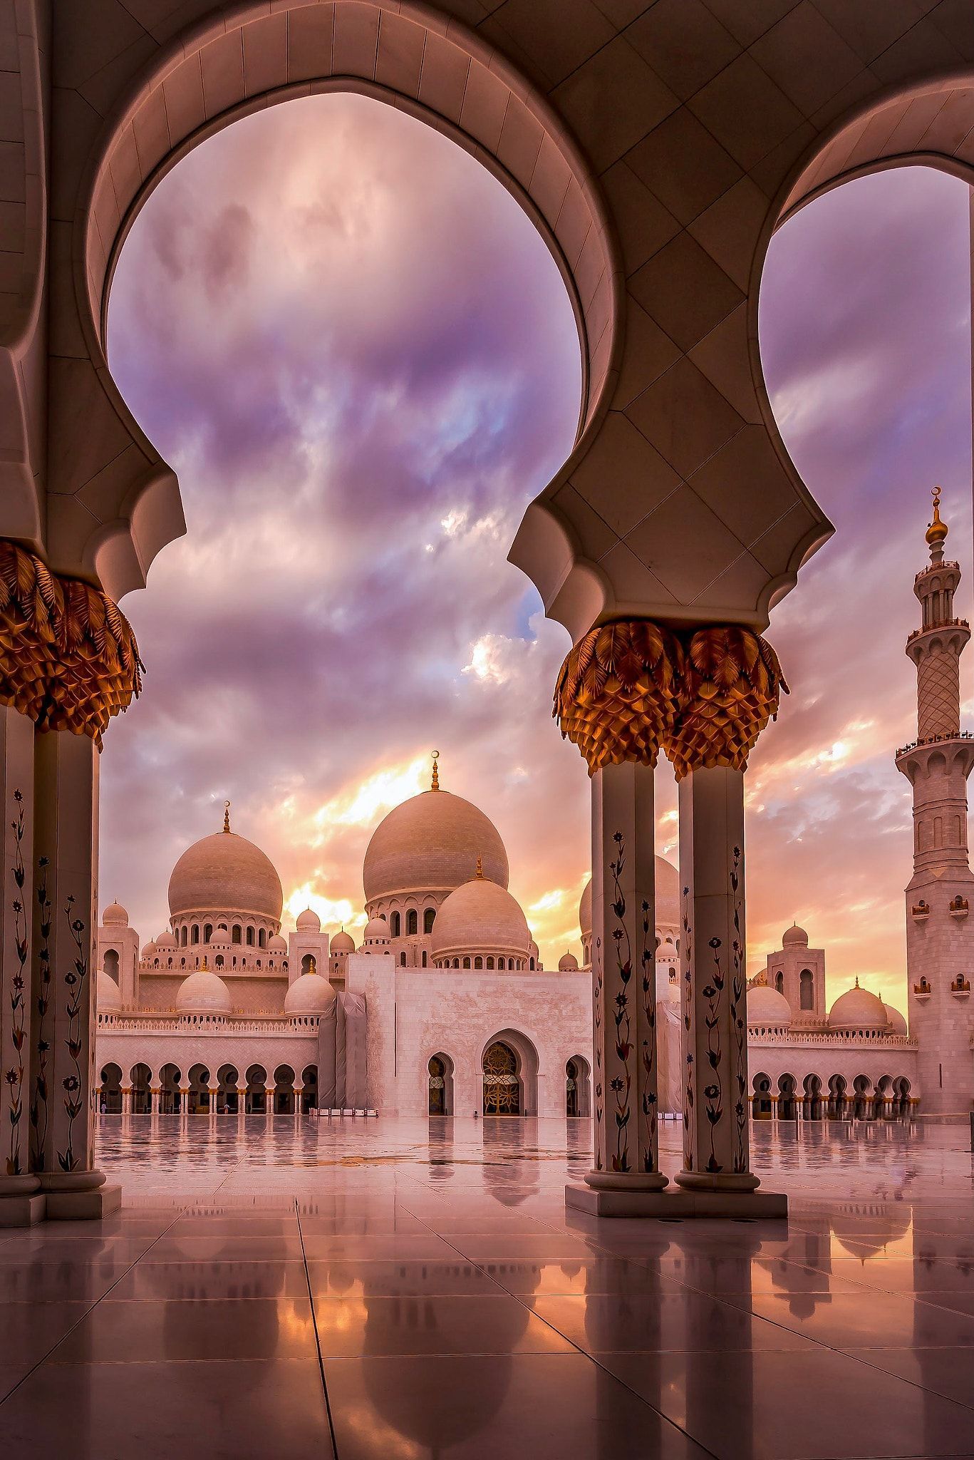
<path id="1" fill-rule="evenodd" d="M 101 1072 L 98 1108 L 105 1115 L 126 1113 L 129 1095 L 133 1115 L 294 1115 L 318 1104 L 318 1067 L 307 1064 L 301 1080 L 289 1064 L 279 1064 L 269 1083 L 263 1064 L 250 1064 L 241 1079 L 235 1064 L 221 1064 L 212 1079 L 206 1064 L 193 1064 L 185 1077 L 178 1064 L 164 1064 L 158 1076 L 139 1061 L 126 1083 L 121 1067 L 108 1063 Z"/>

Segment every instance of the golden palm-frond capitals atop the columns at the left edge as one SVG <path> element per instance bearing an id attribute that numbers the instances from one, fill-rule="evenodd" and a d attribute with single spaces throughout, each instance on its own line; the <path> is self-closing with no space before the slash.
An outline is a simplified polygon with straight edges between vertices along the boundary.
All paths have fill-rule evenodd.
<path id="1" fill-rule="evenodd" d="M 110 597 L 0 539 L 0 704 L 101 749 L 111 717 L 142 691 L 142 670 L 136 637 Z"/>

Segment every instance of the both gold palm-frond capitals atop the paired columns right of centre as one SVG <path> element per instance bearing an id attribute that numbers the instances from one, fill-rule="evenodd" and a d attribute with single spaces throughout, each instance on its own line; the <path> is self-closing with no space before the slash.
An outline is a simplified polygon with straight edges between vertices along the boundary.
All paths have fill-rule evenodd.
<path id="1" fill-rule="evenodd" d="M 555 688 L 561 733 L 588 772 L 663 749 L 678 781 L 699 766 L 743 769 L 789 692 L 778 657 L 751 629 L 675 634 L 648 619 L 603 623 L 575 644 Z"/>

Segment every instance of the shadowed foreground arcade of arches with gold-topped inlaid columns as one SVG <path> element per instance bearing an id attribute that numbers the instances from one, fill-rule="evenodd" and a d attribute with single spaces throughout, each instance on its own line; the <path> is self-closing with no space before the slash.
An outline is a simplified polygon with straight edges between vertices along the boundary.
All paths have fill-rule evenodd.
<path id="1" fill-rule="evenodd" d="M 828 20 L 810 0 L 758 7 L 764 19 L 737 0 L 622 10 L 564 0 L 530 7 L 530 22 L 507 9 L 510 31 L 463 0 L 282 0 L 270 12 L 257 0 L 149 0 L 142 20 L 121 6 L 77 0 L 48 15 L 25 0 L 0 22 L 12 96 L 0 765 L 4 872 L 22 873 L 22 898 L 3 901 L 0 1054 L 15 1115 L 38 1077 L 70 1096 L 45 1108 L 34 1134 L 13 1121 L 0 1178 L 12 1200 L 39 1209 L 41 1187 L 63 1213 L 118 1200 L 95 1165 L 95 1072 L 83 1057 L 95 1035 L 98 755 L 140 688 L 115 603 L 145 585 L 184 520 L 175 474 L 107 365 L 114 260 L 185 150 L 247 110 L 323 86 L 406 107 L 467 147 L 521 201 L 562 270 L 583 355 L 578 439 L 527 508 L 511 559 L 575 645 L 558 711 L 591 771 L 596 948 L 616 934 L 640 948 L 640 910 L 654 905 L 659 750 L 676 766 L 697 1056 L 676 1181 L 695 1199 L 733 1196 L 739 1210 L 759 1200 L 748 1197 L 758 1183 L 746 1120 L 705 1095 L 746 1066 L 740 971 L 726 969 L 716 1009 L 695 971 L 713 946 L 745 942 L 743 774 L 781 689 L 761 634 L 829 534 L 771 418 L 755 345 L 761 266 L 781 219 L 847 177 L 911 158 L 971 175 L 974 22 L 940 0 L 829 4 Z M 701 44 L 701 15 L 718 44 Z M 675 450 L 678 437 L 686 450 Z M 586 664 L 612 666 L 622 641 L 628 676 L 596 676 L 593 694 Z M 714 680 L 699 666 L 723 683 L 742 661 L 733 708 L 716 724 Z M 20 958 L 23 908 L 38 907 L 51 915 L 39 914 Z M 632 1188 L 666 1184 L 654 1066 L 637 1053 L 651 1019 L 629 1007 L 632 1038 L 615 1038 L 625 965 L 606 962 L 594 969 L 594 1085 L 624 1099 L 599 1120 L 596 1094 L 593 1210 L 609 1209 L 610 1188 L 634 1200 Z M 80 986 L 48 1004 L 50 969 L 76 965 Z M 15 978 L 29 980 L 32 997 L 12 1010 Z M 704 1076 L 714 1029 L 718 1064 Z"/>

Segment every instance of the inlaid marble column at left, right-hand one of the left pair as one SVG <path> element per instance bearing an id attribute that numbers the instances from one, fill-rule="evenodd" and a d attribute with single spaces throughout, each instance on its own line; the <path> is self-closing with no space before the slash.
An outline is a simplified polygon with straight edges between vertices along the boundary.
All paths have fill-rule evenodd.
<path id="1" fill-rule="evenodd" d="M 32 986 L 35 1168 L 53 1218 L 121 1204 L 95 1167 L 98 749 L 86 734 L 35 737 L 37 883 Z"/>

